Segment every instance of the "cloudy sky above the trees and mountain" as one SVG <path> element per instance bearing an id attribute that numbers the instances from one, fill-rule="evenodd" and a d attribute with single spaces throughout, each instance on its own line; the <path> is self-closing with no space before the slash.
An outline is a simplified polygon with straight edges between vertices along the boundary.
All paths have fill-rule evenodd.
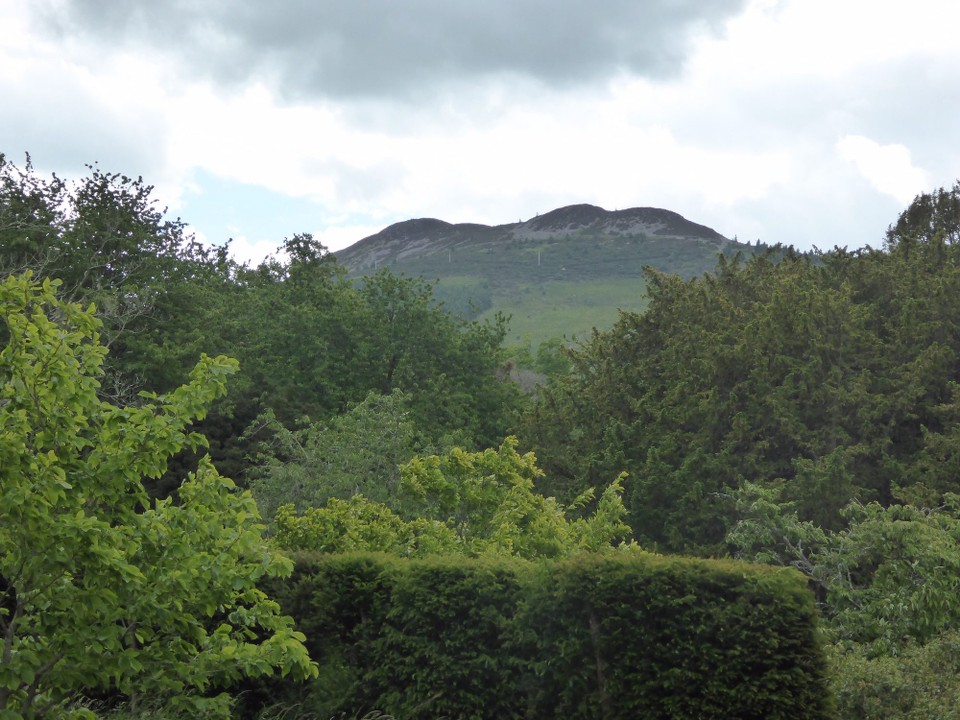
<path id="1" fill-rule="evenodd" d="M 879 247 L 960 177 L 957 27 L 956 0 L 0 0 L 0 152 L 143 176 L 253 263 L 575 203 Z"/>

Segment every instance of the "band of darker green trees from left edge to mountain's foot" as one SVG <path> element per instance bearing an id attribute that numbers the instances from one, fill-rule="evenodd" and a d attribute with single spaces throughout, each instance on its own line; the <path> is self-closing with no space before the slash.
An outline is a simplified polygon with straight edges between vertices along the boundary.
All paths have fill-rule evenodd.
<path id="1" fill-rule="evenodd" d="M 110 347 L 100 394 L 125 404 L 179 386 L 201 352 L 240 361 L 227 397 L 199 426 L 226 474 L 243 479 L 264 412 L 287 428 L 331 421 L 371 391 L 405 393 L 428 443 L 498 443 L 522 394 L 498 375 L 505 321 L 467 322 L 430 284 L 380 272 L 355 283 L 309 235 L 282 259 L 238 265 L 168 220 L 142 178 L 91 168 L 77 183 L 41 178 L 0 155 L 0 272 L 62 280 L 65 299 L 96 302 Z M 251 436 L 262 439 L 262 436 Z M 153 494 L 172 492 L 181 458 Z"/>

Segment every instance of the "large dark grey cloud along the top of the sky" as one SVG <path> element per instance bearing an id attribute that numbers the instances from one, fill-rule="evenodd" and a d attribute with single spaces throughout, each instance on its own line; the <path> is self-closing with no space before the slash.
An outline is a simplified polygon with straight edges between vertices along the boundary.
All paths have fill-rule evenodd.
<path id="1" fill-rule="evenodd" d="M 176 55 L 219 82 L 289 96 L 391 97 L 498 75 L 570 85 L 669 77 L 692 34 L 745 0 L 69 0 L 49 27 Z"/>

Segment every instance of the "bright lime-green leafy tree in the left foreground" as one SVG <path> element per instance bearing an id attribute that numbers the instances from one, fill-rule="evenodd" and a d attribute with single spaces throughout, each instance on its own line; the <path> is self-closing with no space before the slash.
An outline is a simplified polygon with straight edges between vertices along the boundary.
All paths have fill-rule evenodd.
<path id="1" fill-rule="evenodd" d="M 119 695 L 228 717 L 244 675 L 314 669 L 303 636 L 257 588 L 292 566 L 256 505 L 208 461 L 178 503 L 144 478 L 203 438 L 189 424 L 236 363 L 202 357 L 190 381 L 138 406 L 98 397 L 101 323 L 30 273 L 0 285 L 0 718 L 91 717 Z"/>

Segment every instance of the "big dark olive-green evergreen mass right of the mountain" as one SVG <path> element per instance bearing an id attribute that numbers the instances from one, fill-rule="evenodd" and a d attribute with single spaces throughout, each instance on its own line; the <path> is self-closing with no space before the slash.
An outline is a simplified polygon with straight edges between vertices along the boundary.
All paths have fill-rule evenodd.
<path id="1" fill-rule="evenodd" d="M 793 252 L 651 275 L 650 306 L 573 354 L 525 439 L 576 492 L 626 470 L 638 540 L 717 552 L 744 480 L 783 479 L 838 529 L 852 498 L 929 505 L 956 486 L 960 246 Z"/>

